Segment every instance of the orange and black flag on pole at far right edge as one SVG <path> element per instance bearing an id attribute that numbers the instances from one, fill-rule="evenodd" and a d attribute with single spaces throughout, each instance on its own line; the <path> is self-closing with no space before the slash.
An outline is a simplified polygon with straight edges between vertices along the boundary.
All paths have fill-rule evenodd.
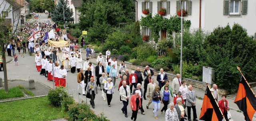
<path id="1" fill-rule="evenodd" d="M 256 97 L 239 67 L 238 70 L 241 73 L 241 78 L 234 103 L 244 112 L 244 119 L 246 121 L 252 121 L 252 117 L 256 111 Z"/>

